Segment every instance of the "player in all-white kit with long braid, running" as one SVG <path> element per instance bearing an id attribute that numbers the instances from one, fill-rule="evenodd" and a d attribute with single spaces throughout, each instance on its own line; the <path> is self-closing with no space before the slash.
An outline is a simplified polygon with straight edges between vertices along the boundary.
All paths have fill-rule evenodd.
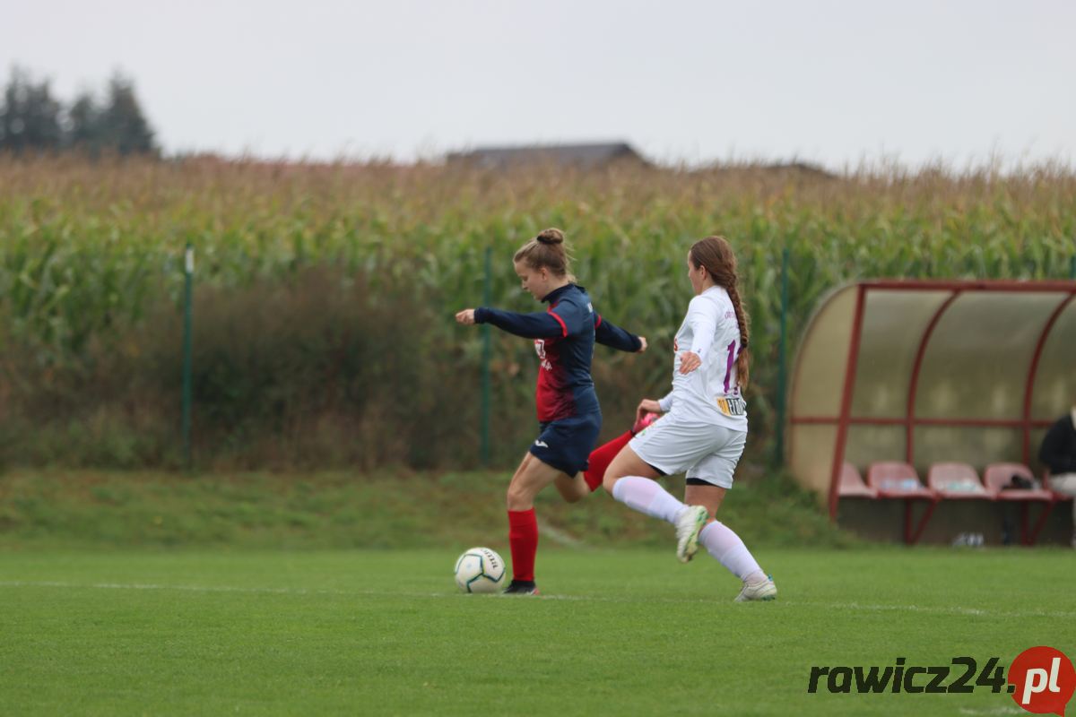
<path id="1" fill-rule="evenodd" d="M 695 242 L 688 253 L 695 298 L 676 334 L 672 390 L 643 399 L 638 414 L 665 413 L 636 435 L 605 473 L 605 489 L 640 513 L 677 529 L 677 557 L 698 544 L 742 580 L 738 602 L 773 600 L 774 580 L 744 541 L 714 518 L 747 442 L 748 316 L 736 287 L 736 257 L 723 236 Z M 685 473 L 683 502 L 654 478 Z"/>

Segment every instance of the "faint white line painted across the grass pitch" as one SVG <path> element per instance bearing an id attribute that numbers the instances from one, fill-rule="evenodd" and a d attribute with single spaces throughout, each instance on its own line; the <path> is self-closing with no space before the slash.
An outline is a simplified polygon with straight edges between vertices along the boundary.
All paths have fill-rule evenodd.
<path id="1" fill-rule="evenodd" d="M 335 590 L 329 588 L 244 588 L 230 585 L 160 585 L 153 583 L 66 583 L 58 580 L 0 580 L 0 588 L 59 588 L 71 590 L 174 590 L 178 592 L 239 592 L 250 594 L 282 594 L 282 596 L 364 596 L 373 598 L 457 598 L 470 597 L 452 592 L 407 592 L 386 590 Z M 479 599 L 486 596 L 479 596 Z M 612 603 L 671 603 L 711 605 L 714 600 L 707 598 L 611 598 L 599 596 L 572 594 L 538 594 L 529 596 L 528 600 L 562 600 L 577 602 L 612 602 Z M 870 613 L 923 613 L 934 615 L 959 615 L 966 617 L 1009 617 L 1009 618 L 1057 618 L 1076 619 L 1076 613 L 1046 611 L 994 611 L 977 607 L 926 607 L 922 605 L 883 605 L 869 603 L 834 603 L 819 601 L 788 601 L 780 603 L 783 607 L 824 607 L 826 610 L 844 610 Z"/>

